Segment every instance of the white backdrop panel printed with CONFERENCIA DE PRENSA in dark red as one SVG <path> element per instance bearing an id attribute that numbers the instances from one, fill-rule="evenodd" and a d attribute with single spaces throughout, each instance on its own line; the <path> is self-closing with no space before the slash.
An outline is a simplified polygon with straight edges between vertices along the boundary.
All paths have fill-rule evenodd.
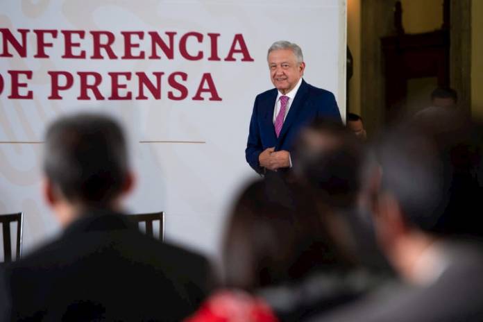
<path id="1" fill-rule="evenodd" d="M 244 149 L 255 95 L 273 87 L 266 66 L 269 45 L 276 40 L 299 44 L 307 64 L 305 80 L 334 92 L 345 116 L 345 1 L 9 0 L 1 1 L 1 6 L 0 28 L 7 28 L 17 40 L 22 39 L 17 29 L 31 30 L 25 58 L 19 57 L 12 46 L 9 51 L 13 57 L 0 57 L 0 213 L 24 212 L 26 251 L 58 230 L 40 194 L 42 143 L 37 142 L 42 142 L 46 124 L 59 115 L 90 110 L 119 119 L 128 133 L 137 173 L 137 186 L 127 202 L 130 212 L 164 210 L 167 239 L 212 255 L 217 253 L 223 218 L 233 196 L 248 178 L 255 176 L 244 160 Z M 45 48 L 49 58 L 33 57 L 37 52 L 33 30 L 39 29 L 58 31 L 56 39 L 45 36 L 46 42 L 52 43 Z M 85 31 L 84 39 L 75 37 L 80 47 L 74 51 L 85 50 L 86 59 L 61 57 L 61 30 Z M 113 33 L 112 50 L 119 58 L 91 59 L 90 31 Z M 133 37 L 133 42 L 139 44 L 133 54 L 146 51 L 146 57 L 151 55 L 149 31 L 160 33 L 164 40 L 168 39 L 165 32 L 176 32 L 173 59 L 164 57 L 159 49 L 161 59 L 121 59 L 123 31 L 144 32 L 143 40 Z M 190 37 L 187 51 L 193 55 L 203 51 L 201 60 L 187 60 L 178 50 L 180 38 L 191 31 L 201 33 L 203 41 Z M 220 34 L 220 61 L 207 60 L 208 33 Z M 242 53 L 235 53 L 235 62 L 223 60 L 236 34 L 243 35 L 253 61 L 242 61 Z M 8 98 L 11 70 L 33 72 L 31 80 L 20 77 L 28 88 L 19 90 L 21 94 L 33 91 L 33 99 Z M 73 75 L 74 83 L 61 92 L 62 100 L 47 99 L 51 93 L 48 71 Z M 132 73 L 130 80 L 120 78 L 127 88 L 119 93 L 130 91 L 135 97 L 135 72 L 144 71 L 154 81 L 151 73 L 162 71 L 161 99 L 153 99 L 145 90 L 147 100 L 96 100 L 91 93 L 92 100 L 78 100 L 78 71 L 101 74 L 99 90 L 106 98 L 111 95 L 108 72 Z M 186 81 L 178 78 L 188 91 L 180 101 L 167 96 L 169 91 L 179 94 L 167 81 L 175 71 L 187 74 Z M 209 101 L 209 93 L 202 94 L 203 101 L 192 100 L 204 73 L 212 76 L 221 101 Z"/>

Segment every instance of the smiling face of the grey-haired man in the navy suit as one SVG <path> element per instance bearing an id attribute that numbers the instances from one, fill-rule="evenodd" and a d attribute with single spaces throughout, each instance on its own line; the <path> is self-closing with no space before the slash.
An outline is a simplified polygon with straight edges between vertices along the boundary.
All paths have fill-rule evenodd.
<path id="1" fill-rule="evenodd" d="M 305 63 L 298 63 L 290 49 L 278 49 L 269 53 L 269 69 L 273 85 L 282 94 L 287 94 L 302 77 Z"/>

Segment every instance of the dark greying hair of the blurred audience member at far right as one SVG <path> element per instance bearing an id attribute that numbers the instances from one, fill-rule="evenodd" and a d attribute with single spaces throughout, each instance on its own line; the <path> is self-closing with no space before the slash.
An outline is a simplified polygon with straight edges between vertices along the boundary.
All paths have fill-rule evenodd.
<path id="1" fill-rule="evenodd" d="M 483 127 L 441 110 L 395 128 L 378 147 L 382 192 L 409 226 L 439 235 L 480 234 Z"/>

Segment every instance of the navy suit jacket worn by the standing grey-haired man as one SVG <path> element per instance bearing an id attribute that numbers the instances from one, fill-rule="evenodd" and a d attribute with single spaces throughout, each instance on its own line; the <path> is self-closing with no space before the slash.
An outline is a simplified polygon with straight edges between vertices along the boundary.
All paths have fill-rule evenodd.
<path id="1" fill-rule="evenodd" d="M 276 88 L 258 94 L 253 105 L 245 158 L 246 162 L 257 173 L 264 172 L 264 168 L 260 167 L 258 162 L 258 155 L 262 151 L 274 146 L 275 151 L 291 152 L 292 144 L 300 128 L 310 121 L 319 117 L 326 117 L 341 122 L 341 115 L 334 94 L 309 85 L 305 83 L 305 80 L 302 80 L 283 123 L 280 136 L 277 138 L 273 126 L 273 109 L 275 108 L 277 94 Z"/>

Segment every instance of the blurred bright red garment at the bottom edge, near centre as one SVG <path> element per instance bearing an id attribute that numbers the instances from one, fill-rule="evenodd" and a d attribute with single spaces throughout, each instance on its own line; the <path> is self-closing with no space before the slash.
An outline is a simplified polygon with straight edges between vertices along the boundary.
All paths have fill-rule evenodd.
<path id="1" fill-rule="evenodd" d="M 220 291 L 184 322 L 278 322 L 269 305 L 243 291 Z"/>

